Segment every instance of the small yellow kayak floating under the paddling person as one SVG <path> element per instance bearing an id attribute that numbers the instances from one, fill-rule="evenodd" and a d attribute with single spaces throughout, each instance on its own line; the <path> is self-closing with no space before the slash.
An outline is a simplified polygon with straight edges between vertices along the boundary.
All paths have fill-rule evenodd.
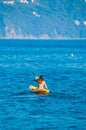
<path id="1" fill-rule="evenodd" d="M 31 91 L 31 92 L 34 92 L 34 93 L 37 93 L 37 94 L 49 94 L 50 93 L 50 91 L 48 90 L 48 89 L 38 89 L 37 87 L 35 87 L 35 86 L 30 86 L 29 87 L 29 90 Z"/>

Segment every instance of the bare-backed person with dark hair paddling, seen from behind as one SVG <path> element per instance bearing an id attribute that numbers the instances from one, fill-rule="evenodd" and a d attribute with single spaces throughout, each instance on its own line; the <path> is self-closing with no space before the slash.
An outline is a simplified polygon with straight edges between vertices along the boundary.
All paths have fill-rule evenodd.
<path id="1" fill-rule="evenodd" d="M 38 89 L 48 89 L 43 75 L 40 75 L 40 77 L 36 76 L 34 81 L 38 83 Z"/>

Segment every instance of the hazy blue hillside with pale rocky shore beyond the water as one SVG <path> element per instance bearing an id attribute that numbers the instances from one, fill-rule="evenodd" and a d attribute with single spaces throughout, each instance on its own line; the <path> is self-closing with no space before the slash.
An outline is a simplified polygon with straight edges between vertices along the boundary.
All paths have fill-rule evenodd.
<path id="1" fill-rule="evenodd" d="M 86 1 L 0 0 L 0 38 L 86 38 Z"/>

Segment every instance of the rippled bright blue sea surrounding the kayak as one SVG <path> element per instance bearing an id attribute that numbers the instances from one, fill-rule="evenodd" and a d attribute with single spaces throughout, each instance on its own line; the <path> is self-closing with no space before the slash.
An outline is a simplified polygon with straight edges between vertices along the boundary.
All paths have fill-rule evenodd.
<path id="1" fill-rule="evenodd" d="M 0 40 L 0 130 L 86 130 L 86 40 Z"/>

